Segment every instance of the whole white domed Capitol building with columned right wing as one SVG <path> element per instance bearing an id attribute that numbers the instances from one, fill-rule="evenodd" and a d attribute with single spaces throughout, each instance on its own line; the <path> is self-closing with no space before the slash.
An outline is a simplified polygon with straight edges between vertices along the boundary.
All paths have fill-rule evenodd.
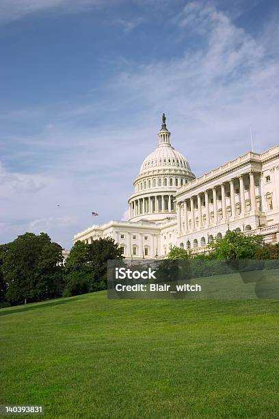
<path id="1" fill-rule="evenodd" d="M 248 152 L 196 177 L 170 144 L 162 118 L 159 144 L 139 170 L 129 221 L 109 221 L 77 233 L 74 242 L 111 237 L 128 258 L 161 258 L 173 246 L 207 250 L 228 230 L 279 241 L 279 146 Z"/>

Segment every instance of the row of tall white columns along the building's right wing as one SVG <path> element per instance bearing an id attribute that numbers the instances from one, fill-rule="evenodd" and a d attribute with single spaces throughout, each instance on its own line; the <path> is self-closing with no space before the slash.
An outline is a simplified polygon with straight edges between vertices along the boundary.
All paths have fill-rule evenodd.
<path id="1" fill-rule="evenodd" d="M 251 201 L 251 210 L 256 210 L 256 193 L 255 193 L 255 182 L 254 182 L 254 173 L 249 173 L 250 177 L 250 201 Z M 239 193 L 240 193 L 240 203 L 241 203 L 241 215 L 245 214 L 245 195 L 244 195 L 244 181 L 243 175 L 238 177 L 239 179 Z M 225 183 L 221 184 L 221 201 L 222 201 L 222 216 L 223 220 L 227 220 L 226 214 L 226 194 L 225 194 Z M 230 209 L 231 209 L 231 218 L 235 218 L 235 179 L 230 179 Z M 220 186 L 220 185 L 219 185 Z M 213 223 L 217 223 L 218 220 L 218 209 L 217 209 L 217 186 L 212 188 L 213 194 Z M 204 203 L 205 203 L 205 212 L 206 212 L 206 223 L 207 227 L 211 225 L 211 218 L 209 213 L 209 190 L 206 190 L 204 193 Z M 184 207 L 184 232 L 194 231 L 196 229 L 196 220 L 195 220 L 195 209 L 194 209 L 194 199 L 197 198 L 198 201 L 198 226 L 202 227 L 202 205 L 201 205 L 201 193 L 191 196 L 190 201 L 190 214 L 191 214 L 191 227 L 189 229 L 188 223 L 188 211 L 187 211 L 187 200 L 183 202 Z M 177 220 L 178 220 L 178 234 L 181 235 L 182 226 L 181 226 L 181 204 L 178 203 L 177 208 Z"/>

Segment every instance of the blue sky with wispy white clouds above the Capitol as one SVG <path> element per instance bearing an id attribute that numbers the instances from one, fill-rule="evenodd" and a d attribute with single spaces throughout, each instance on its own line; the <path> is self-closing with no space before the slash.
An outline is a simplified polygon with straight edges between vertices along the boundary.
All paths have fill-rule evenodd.
<path id="1" fill-rule="evenodd" d="M 163 112 L 196 175 L 278 144 L 278 43 L 278 1 L 0 0 L 0 241 L 127 216 Z"/>

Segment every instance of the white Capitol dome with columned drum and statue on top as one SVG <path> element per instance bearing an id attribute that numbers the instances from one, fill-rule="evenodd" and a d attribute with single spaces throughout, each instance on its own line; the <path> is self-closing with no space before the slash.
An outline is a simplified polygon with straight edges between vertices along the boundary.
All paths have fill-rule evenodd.
<path id="1" fill-rule="evenodd" d="M 176 217 L 174 195 L 195 178 L 185 157 L 170 144 L 170 131 L 162 118 L 159 144 L 142 163 L 129 199 L 130 220 L 159 222 Z"/>

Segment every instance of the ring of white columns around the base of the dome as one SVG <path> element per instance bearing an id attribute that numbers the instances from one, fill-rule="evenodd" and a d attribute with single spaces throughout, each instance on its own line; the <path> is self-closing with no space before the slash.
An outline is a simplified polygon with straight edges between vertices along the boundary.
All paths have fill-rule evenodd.
<path id="1" fill-rule="evenodd" d="M 153 212 L 174 211 L 174 207 L 172 209 L 172 205 L 174 205 L 173 200 L 174 196 L 172 195 L 156 195 L 134 199 L 129 204 L 130 218 L 143 214 L 152 214 Z"/>

